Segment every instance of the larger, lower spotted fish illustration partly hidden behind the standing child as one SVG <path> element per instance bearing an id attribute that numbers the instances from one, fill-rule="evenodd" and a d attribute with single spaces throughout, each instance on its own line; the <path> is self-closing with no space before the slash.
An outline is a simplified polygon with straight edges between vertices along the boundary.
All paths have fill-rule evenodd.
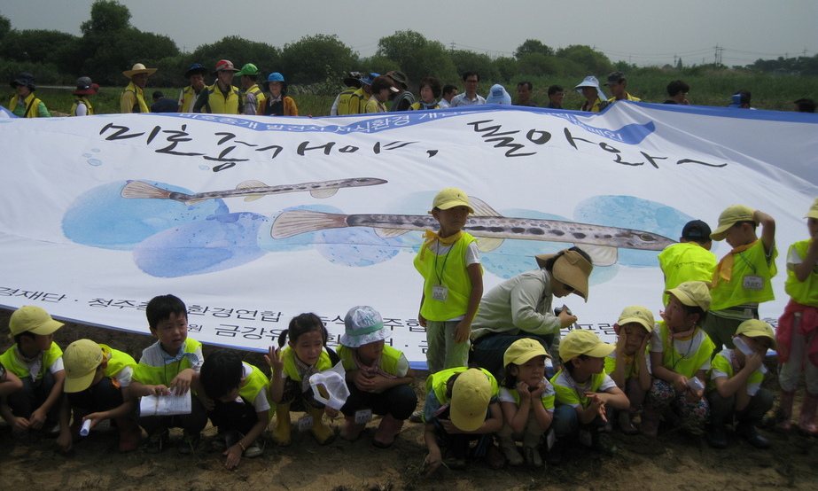
<path id="1" fill-rule="evenodd" d="M 540 218 L 504 217 L 480 199 L 469 197 L 474 214 L 464 231 L 477 238 L 483 252 L 495 250 L 508 238 L 567 242 L 581 245 L 594 264 L 610 266 L 617 261 L 618 249 L 661 251 L 675 241 L 645 230 L 623 229 L 592 223 L 564 222 Z M 371 227 L 379 237 L 394 238 L 412 230 L 436 230 L 431 214 L 331 214 L 309 210 L 285 211 L 270 229 L 272 238 L 288 238 L 316 230 Z"/>

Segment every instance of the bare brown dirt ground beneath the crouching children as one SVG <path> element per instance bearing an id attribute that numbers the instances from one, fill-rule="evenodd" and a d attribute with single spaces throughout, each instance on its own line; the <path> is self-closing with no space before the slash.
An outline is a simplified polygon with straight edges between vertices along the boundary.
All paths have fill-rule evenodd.
<path id="1" fill-rule="evenodd" d="M 9 312 L 0 310 L 0 348 L 6 338 Z M 138 359 L 152 339 L 79 324 L 66 324 L 56 341 L 66 347 L 90 338 L 129 352 Z M 207 350 L 206 350 L 207 352 Z M 245 360 L 263 366 L 260 355 L 245 353 Z M 768 380 L 768 384 L 775 384 Z M 417 388 L 423 381 L 417 379 Z M 776 389 L 774 385 L 770 388 Z M 798 401 L 797 401 L 798 404 Z M 335 422 L 340 424 L 340 420 Z M 407 424 L 392 448 L 371 444 L 378 420 L 362 438 L 334 440 L 320 446 L 309 433 L 293 428 L 293 443 L 277 448 L 268 442 L 263 456 L 243 459 L 236 471 L 223 467 L 222 456 L 209 449 L 215 429 L 208 425 L 201 450 L 180 456 L 175 448 L 160 455 L 136 450 L 116 451 L 115 432 L 98 431 L 61 454 L 54 440 L 28 444 L 12 440 L 11 429 L 0 423 L 0 488 L 2 489 L 316 489 L 316 490 L 471 490 L 479 489 L 815 489 L 818 483 L 818 439 L 798 433 L 763 431 L 773 443 L 770 450 L 752 448 L 731 438 L 726 450 L 709 448 L 704 440 L 663 428 L 658 439 L 612 433 L 618 452 L 603 456 L 569 449 L 564 463 L 544 471 L 505 468 L 493 471 L 471 464 L 465 471 L 441 468 L 425 477 L 422 425 Z M 178 431 L 178 430 L 175 430 Z M 181 438 L 180 433 L 172 433 Z"/>

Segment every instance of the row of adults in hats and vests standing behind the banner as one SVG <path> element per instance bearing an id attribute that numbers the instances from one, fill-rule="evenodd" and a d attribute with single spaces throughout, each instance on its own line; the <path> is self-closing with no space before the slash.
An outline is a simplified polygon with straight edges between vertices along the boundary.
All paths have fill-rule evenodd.
<path id="1" fill-rule="evenodd" d="M 229 59 L 219 60 L 213 72 L 205 66 L 194 63 L 183 74 L 187 85 L 180 90 L 174 101 L 160 91 L 152 94 L 152 104 L 145 97 L 148 78 L 156 73 L 156 68 L 148 68 L 136 63 L 122 74 L 129 83 L 120 97 L 121 113 L 222 113 L 247 115 L 298 116 L 295 100 L 287 95 L 287 82 L 279 72 L 270 73 L 266 79 L 259 68 L 247 63 L 238 70 Z M 205 77 L 214 77 L 212 85 L 205 84 Z M 234 78 L 238 76 L 238 84 Z M 426 76 L 417 84 L 417 96 L 409 91 L 409 78 L 401 71 L 386 74 L 362 74 L 350 72 L 343 82 L 347 89 L 341 91 L 333 101 L 330 115 L 386 113 L 392 111 L 432 110 L 464 105 L 499 104 L 536 107 L 532 100 L 534 84 L 519 82 L 517 98 L 512 102 L 508 90 L 501 84 L 492 85 L 486 97 L 479 94 L 480 76 L 476 72 L 465 72 L 463 92 L 454 85 L 442 85 L 440 80 Z M 259 81 L 262 86 L 259 85 Z M 266 82 L 266 83 L 265 83 Z M 32 74 L 18 74 L 11 82 L 15 94 L 9 99 L 9 109 L 19 117 L 48 117 L 51 115 L 43 101 L 35 96 L 35 81 Z M 598 113 L 607 105 L 618 100 L 640 101 L 627 91 L 627 78 L 622 72 L 607 75 L 604 87 L 611 92 L 606 97 L 599 80 L 588 75 L 574 89 L 584 97 L 580 111 Z M 77 79 L 74 90 L 74 105 L 68 115 L 84 116 L 93 114 L 90 96 L 97 94 L 99 86 L 87 76 Z M 667 98 L 664 104 L 689 105 L 687 98 L 690 87 L 681 80 L 667 84 Z M 547 90 L 550 109 L 563 107 L 565 88 L 550 85 Z M 814 113 L 815 101 L 799 98 L 793 101 L 793 110 L 800 113 Z M 736 90 L 729 97 L 728 107 L 752 109 L 752 93 Z"/>

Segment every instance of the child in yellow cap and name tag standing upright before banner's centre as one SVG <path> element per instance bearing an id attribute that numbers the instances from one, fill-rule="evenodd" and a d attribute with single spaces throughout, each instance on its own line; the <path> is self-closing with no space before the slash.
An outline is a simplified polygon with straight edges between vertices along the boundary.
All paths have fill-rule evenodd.
<path id="1" fill-rule="evenodd" d="M 426 230 L 415 257 L 424 277 L 417 320 L 426 328 L 426 363 L 430 373 L 466 366 L 471 321 L 483 295 L 483 270 L 474 238 L 463 231 L 474 210 L 457 188 L 440 191 L 429 212 L 440 223 Z"/>

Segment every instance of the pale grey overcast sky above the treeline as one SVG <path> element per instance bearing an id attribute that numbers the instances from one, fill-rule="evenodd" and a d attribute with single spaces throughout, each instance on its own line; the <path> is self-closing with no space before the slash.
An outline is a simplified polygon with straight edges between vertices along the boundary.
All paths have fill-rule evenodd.
<path id="1" fill-rule="evenodd" d="M 92 0 L 0 0 L 15 29 L 80 34 Z M 131 24 L 167 35 L 183 51 L 226 35 L 283 47 L 303 35 L 335 34 L 370 56 L 378 39 L 412 29 L 456 49 L 511 56 L 528 38 L 559 48 L 588 44 L 612 60 L 725 65 L 818 52 L 818 0 L 121 0 Z M 405 13 L 404 13 L 405 12 Z M 243 63 L 245 60 L 240 60 Z"/>

